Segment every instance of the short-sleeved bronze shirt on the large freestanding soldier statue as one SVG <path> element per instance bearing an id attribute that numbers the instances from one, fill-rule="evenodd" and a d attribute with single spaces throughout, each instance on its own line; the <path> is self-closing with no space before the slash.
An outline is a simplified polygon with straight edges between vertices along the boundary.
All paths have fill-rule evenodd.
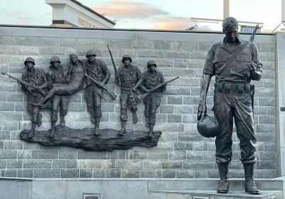
<path id="1" fill-rule="evenodd" d="M 234 50 L 238 48 L 241 48 L 241 51 L 231 58 L 232 53 L 229 52 L 224 40 L 214 43 L 207 54 L 203 73 L 216 75 L 216 81 L 222 74 L 219 83 L 249 84 L 249 63 L 254 62 L 257 65 L 256 70 L 262 71 L 257 46 L 241 39 Z M 232 60 L 230 63 L 229 58 Z"/>

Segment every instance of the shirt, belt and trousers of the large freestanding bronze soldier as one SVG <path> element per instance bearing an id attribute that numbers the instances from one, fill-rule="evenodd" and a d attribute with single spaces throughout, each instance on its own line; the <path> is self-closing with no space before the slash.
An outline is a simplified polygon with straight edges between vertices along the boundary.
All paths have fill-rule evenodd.
<path id="1" fill-rule="evenodd" d="M 227 47 L 224 40 L 212 45 L 203 70 L 204 74 L 216 77 L 214 114 L 221 127 L 221 134 L 215 141 L 218 164 L 232 161 L 233 119 L 240 141 L 242 163 L 256 163 L 254 152 L 257 139 L 254 136 L 251 75 L 248 65 L 254 62 L 257 65 L 256 71 L 261 71 L 262 64 L 254 43 L 237 40 L 233 50 Z M 232 53 L 236 50 L 239 50 L 238 53 Z"/>

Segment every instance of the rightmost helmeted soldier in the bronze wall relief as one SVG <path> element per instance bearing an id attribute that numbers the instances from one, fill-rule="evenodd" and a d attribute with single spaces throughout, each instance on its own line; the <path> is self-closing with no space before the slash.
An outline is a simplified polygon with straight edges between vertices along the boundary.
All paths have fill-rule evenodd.
<path id="1" fill-rule="evenodd" d="M 150 127 L 148 136 L 152 137 L 157 107 L 160 106 L 162 92 L 165 91 L 166 87 L 163 86 L 157 90 L 154 90 L 153 92 L 150 92 L 152 88 L 165 82 L 165 79 L 162 73 L 156 70 L 157 65 L 154 60 L 149 60 L 147 62 L 147 68 L 148 70 L 142 73 L 142 78 L 140 82 L 138 82 L 138 85 L 140 85 L 140 88 L 144 92 L 149 94 L 147 95 L 147 97 L 145 97 L 145 99 L 143 99 L 143 101 L 145 102 L 146 122 L 147 125 Z"/>

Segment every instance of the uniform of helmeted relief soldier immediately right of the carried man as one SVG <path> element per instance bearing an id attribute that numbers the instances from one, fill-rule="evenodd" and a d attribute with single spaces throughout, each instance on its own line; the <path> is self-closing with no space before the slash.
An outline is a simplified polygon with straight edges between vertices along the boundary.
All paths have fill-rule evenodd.
<path id="1" fill-rule="evenodd" d="M 110 78 L 110 71 L 103 60 L 95 59 L 93 63 L 88 60 L 85 61 L 86 73 L 97 82 L 108 82 Z M 101 99 L 103 97 L 103 89 L 98 87 L 89 78 L 86 78 L 86 90 L 84 97 L 87 102 L 87 109 L 91 117 L 102 117 Z"/>

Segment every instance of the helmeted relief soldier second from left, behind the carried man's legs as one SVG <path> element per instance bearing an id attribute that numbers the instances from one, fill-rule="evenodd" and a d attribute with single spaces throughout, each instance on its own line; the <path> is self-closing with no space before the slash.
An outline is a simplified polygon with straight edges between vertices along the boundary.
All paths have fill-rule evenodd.
<path id="1" fill-rule="evenodd" d="M 47 72 L 48 88 L 52 90 L 53 87 L 58 85 L 66 85 L 66 71 L 61 65 L 61 60 L 57 56 L 51 58 L 50 69 Z M 50 136 L 54 136 L 56 129 L 56 121 L 58 120 L 58 109 L 60 108 L 61 127 L 66 127 L 66 121 L 64 117 L 68 112 L 69 95 L 53 95 L 51 103 L 51 133 Z"/>

